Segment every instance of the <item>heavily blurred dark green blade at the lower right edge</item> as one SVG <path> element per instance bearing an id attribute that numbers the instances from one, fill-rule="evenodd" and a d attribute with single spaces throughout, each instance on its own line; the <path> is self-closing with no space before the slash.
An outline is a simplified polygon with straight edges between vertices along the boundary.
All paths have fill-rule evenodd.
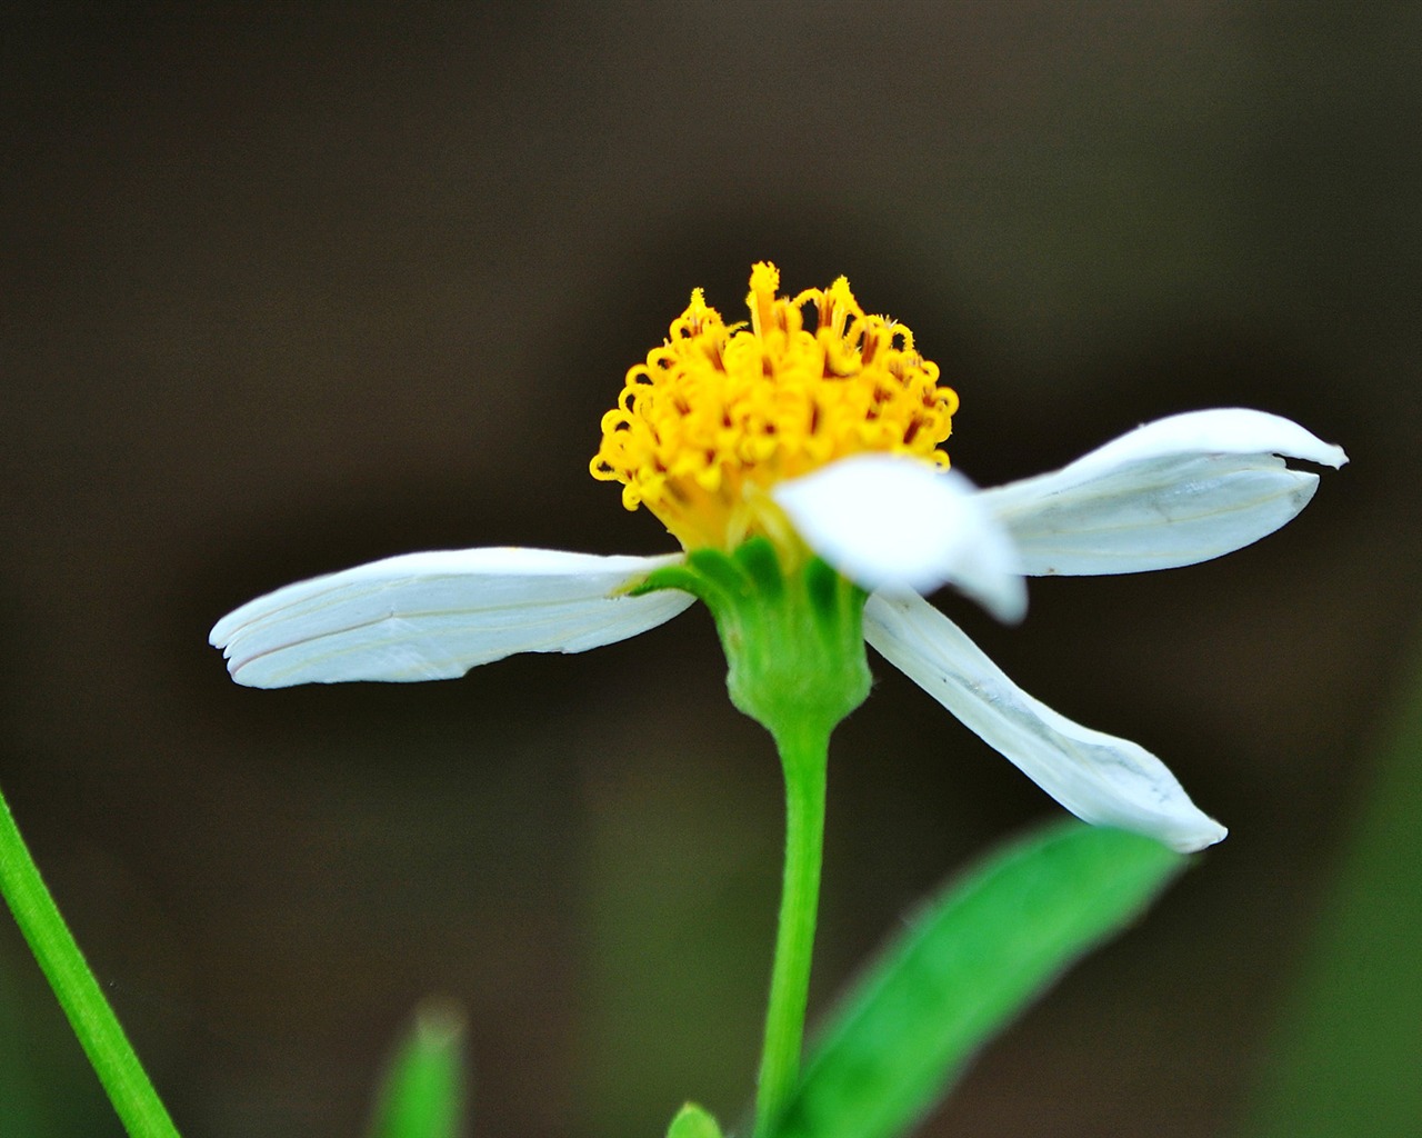
<path id="1" fill-rule="evenodd" d="M 1422 1128 L 1422 661 L 1372 765 L 1246 1134 Z"/>

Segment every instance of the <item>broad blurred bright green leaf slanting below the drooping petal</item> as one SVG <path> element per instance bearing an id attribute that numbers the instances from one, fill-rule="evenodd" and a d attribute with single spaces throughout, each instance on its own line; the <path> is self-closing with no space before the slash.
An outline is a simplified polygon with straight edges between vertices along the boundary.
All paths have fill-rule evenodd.
<path id="1" fill-rule="evenodd" d="M 1058 974 L 1185 865 L 1149 838 L 1055 824 L 954 882 L 860 979 L 758 1138 L 890 1138 Z"/>

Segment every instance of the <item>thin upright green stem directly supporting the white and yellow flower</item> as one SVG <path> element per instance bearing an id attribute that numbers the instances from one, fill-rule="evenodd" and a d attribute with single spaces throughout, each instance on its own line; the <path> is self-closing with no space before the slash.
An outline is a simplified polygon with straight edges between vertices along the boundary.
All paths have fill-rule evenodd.
<path id="1" fill-rule="evenodd" d="M 825 848 L 829 731 L 803 725 L 793 734 L 776 735 L 775 741 L 785 768 L 785 883 L 755 1095 L 757 1135 L 769 1132 L 799 1080 Z"/>

